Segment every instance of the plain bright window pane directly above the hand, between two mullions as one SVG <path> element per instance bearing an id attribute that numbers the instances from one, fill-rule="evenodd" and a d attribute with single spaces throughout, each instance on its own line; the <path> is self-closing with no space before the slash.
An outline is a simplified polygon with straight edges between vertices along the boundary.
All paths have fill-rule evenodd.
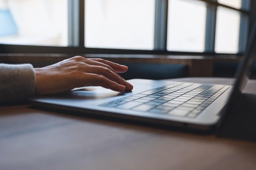
<path id="1" fill-rule="evenodd" d="M 154 49 L 155 0 L 85 0 L 85 46 Z"/>

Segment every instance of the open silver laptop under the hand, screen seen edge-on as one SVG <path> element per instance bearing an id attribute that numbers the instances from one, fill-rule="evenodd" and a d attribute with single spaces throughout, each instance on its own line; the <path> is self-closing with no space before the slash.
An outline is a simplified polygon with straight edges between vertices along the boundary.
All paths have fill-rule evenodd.
<path id="1" fill-rule="evenodd" d="M 234 86 L 170 82 L 149 79 L 128 80 L 132 92 L 115 92 L 87 86 L 70 92 L 31 98 L 33 105 L 208 131 L 221 124 L 242 93 L 254 66 L 256 22 L 240 61 Z"/>

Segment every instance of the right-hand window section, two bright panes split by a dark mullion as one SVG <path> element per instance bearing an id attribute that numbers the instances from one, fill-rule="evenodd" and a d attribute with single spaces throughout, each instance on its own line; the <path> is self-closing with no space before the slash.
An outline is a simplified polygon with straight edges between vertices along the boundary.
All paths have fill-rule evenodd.
<path id="1" fill-rule="evenodd" d="M 168 51 L 243 53 L 249 0 L 168 0 Z"/>

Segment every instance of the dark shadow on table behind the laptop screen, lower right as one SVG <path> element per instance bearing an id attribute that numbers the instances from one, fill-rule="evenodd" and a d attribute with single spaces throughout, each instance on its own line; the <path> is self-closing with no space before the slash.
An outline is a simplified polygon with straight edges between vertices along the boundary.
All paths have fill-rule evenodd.
<path id="1" fill-rule="evenodd" d="M 218 137 L 256 141 L 256 95 L 243 93 L 222 122 Z"/>

